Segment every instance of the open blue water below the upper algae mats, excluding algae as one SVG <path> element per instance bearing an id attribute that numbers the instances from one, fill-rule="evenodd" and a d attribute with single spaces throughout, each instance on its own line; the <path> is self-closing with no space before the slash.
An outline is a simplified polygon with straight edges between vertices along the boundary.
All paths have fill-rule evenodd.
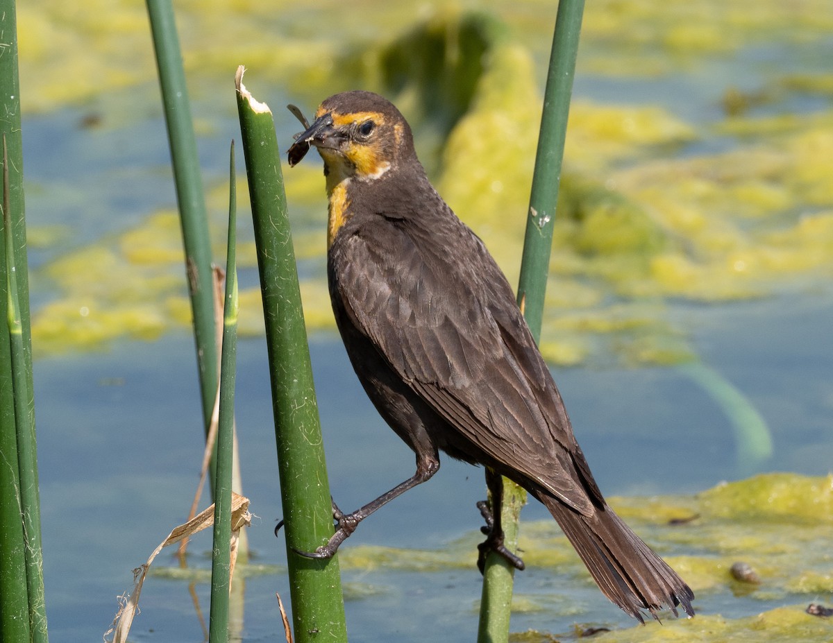
<path id="1" fill-rule="evenodd" d="M 721 371 L 765 417 L 775 442 L 765 471 L 823 475 L 833 461 L 828 421 L 833 406 L 833 297 L 783 297 L 680 312 L 695 329 L 704 361 Z M 351 509 L 412 474 L 413 456 L 382 424 L 364 396 L 335 336 L 312 341 L 332 492 Z M 185 520 L 197 484 L 202 429 L 192 341 L 177 334 L 152 343 L 123 342 L 94 355 L 37 361 L 37 426 L 47 606 L 52 641 L 93 640 L 106 629 L 115 597 L 173 526 Z M 254 562 L 282 565 L 282 539 L 265 348 L 241 341 L 237 429 L 243 483 L 257 515 L 249 530 Z M 576 434 L 606 495 L 688 493 L 738 476 L 726 418 L 699 388 L 673 369 L 556 370 Z M 438 549 L 471 538 L 471 566 L 432 574 L 345 572 L 371 599 L 347 601 L 355 641 L 457 641 L 476 628 L 479 575 L 474 543 L 484 496 L 481 471 L 445 460 L 441 471 L 362 523 L 346 547 L 360 544 Z M 207 501 L 202 506 L 206 506 Z M 541 506 L 525 520 L 545 519 Z M 210 536 L 192 542 L 192 565 L 207 568 Z M 173 566 L 163 551 L 156 565 Z M 546 591 L 546 571 L 518 575 L 517 591 Z M 246 641 L 280 631 L 273 594 L 288 601 L 282 573 L 247 583 Z M 591 587 L 569 588 L 571 600 L 613 624 L 627 625 Z M 207 583 L 199 586 L 207 605 Z M 556 592 L 556 598 L 552 598 Z M 559 594 L 561 592 L 561 594 Z M 577 592 L 577 593 L 576 593 Z M 701 604 L 708 605 L 705 596 Z M 440 609 L 455 606 L 446 616 Z M 403 609 L 407 605 L 407 609 Z M 187 583 L 151 577 L 134 639 L 198 641 Z M 397 619 L 389 619 L 391 611 Z M 576 617 L 578 618 L 578 617 Z M 443 621 L 446 619 L 447 622 Z M 608 622 L 606 621 L 606 622 Z M 568 628 L 568 622 L 562 625 Z M 561 621 L 519 615 L 526 626 L 558 630 Z M 391 628 L 394 628 L 392 630 Z M 152 632 L 151 632 L 152 630 Z M 377 632 L 377 634 L 372 634 Z M 379 638 L 377 638 L 377 636 Z"/>

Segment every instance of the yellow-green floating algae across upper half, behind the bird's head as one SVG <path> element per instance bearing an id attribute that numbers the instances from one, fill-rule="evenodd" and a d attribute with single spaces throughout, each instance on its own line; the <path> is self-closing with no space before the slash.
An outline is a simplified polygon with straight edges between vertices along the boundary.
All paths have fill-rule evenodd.
<path id="1" fill-rule="evenodd" d="M 60 71 L 61 56 L 42 37 L 65 22 L 62 9 L 42 4 L 37 15 L 22 11 L 22 41 L 28 47 L 39 43 L 31 56 L 22 53 L 22 61 L 47 65 L 63 78 L 68 72 Z M 183 45 L 197 82 L 212 77 L 219 58 L 228 57 L 203 21 L 226 22 L 222 12 L 232 7 L 220 2 L 212 7 L 212 12 L 182 7 L 183 19 L 192 21 Z M 267 19 L 256 7 L 249 9 L 240 21 L 236 12 L 235 29 L 245 31 Z M 143 15 L 139 21 L 135 7 L 126 3 L 110 11 L 121 12 L 111 22 L 121 37 L 129 42 L 141 30 L 144 46 Z M 327 12 L 327 2 L 309 11 Z M 393 97 L 415 124 L 421 158 L 441 193 L 516 282 L 540 119 L 536 58 L 548 50 L 550 37 L 549 25 L 531 28 L 541 22 L 540 6 L 526 2 L 510 10 L 497 5 L 494 14 L 436 8 L 416 23 L 411 12 L 395 7 L 377 7 L 374 15 L 391 26 L 387 33 L 392 35 L 378 37 L 357 22 L 354 39 L 338 41 L 338 47 L 327 39 L 327 29 L 336 26 L 319 21 L 313 34 L 304 26 L 310 24 L 306 12 L 303 19 L 284 16 L 280 28 L 287 39 L 277 45 L 265 39 L 261 53 L 257 44 L 249 44 L 247 60 L 255 67 L 262 57 L 272 57 L 268 73 L 283 66 L 288 76 L 282 84 L 305 97 L 307 108 L 354 86 Z M 660 82 L 657 78 L 672 69 L 702 82 L 701 67 L 764 42 L 764 34 L 766 42 L 797 47 L 796 24 L 806 25 L 801 42 L 813 42 L 833 24 L 833 11 L 825 2 L 789 10 L 768 2 L 756 5 L 755 12 L 715 12 L 706 1 L 656 7 L 631 0 L 588 7 L 577 77 L 595 75 L 591 85 L 605 87 L 624 74 L 633 78 L 634 88 L 615 100 L 576 97 L 571 107 L 541 336 L 548 360 L 562 365 L 600 359 L 626 365 L 685 363 L 694 355 L 686 327 L 679 319 L 669 321 L 676 302 L 742 301 L 806 292 L 830 282 L 833 110 L 817 101 L 809 112 L 794 108 L 802 97 L 833 93 L 824 66 L 761 77 L 761 87 L 743 90 L 729 77 L 711 77 L 710 82 L 726 85 L 724 107 L 730 102 L 735 107 L 715 108 L 697 121 L 683 116 L 686 109 L 674 112 L 667 102 L 646 102 L 654 89 L 642 84 Z M 98 87 L 145 82 L 124 72 L 127 62 L 118 55 L 102 57 L 113 48 L 112 32 L 92 20 L 72 25 L 75 31 L 62 38 L 85 38 L 89 47 L 61 50 L 106 65 L 97 76 L 85 72 Z M 731 38 L 723 35 L 726 29 Z M 235 40 L 252 42 L 229 38 Z M 91 68 L 74 62 L 72 67 Z M 48 87 L 49 82 L 39 83 L 36 91 L 46 93 L 32 98 L 44 109 L 85 100 L 83 83 L 75 99 L 50 94 Z M 225 187 L 212 188 L 210 201 L 215 193 L 225 194 Z M 307 325 L 332 329 L 323 261 L 326 205 L 318 168 L 310 164 L 287 173 L 287 194 L 297 227 L 297 257 L 304 262 Z M 50 234 L 47 227 L 40 237 Z M 150 338 L 186 324 L 190 312 L 184 288 L 177 285 L 180 245 L 172 215 L 157 212 L 115 240 L 95 240 L 54 259 L 42 272 L 55 284 L 57 297 L 34 315 L 38 350 L 101 346 L 118 336 Z M 240 258 L 244 269 L 247 263 L 253 266 L 250 242 L 242 241 Z M 82 266 L 92 273 L 73 276 Z M 245 282 L 241 297 L 241 331 L 261 332 L 259 303 L 246 292 Z"/>

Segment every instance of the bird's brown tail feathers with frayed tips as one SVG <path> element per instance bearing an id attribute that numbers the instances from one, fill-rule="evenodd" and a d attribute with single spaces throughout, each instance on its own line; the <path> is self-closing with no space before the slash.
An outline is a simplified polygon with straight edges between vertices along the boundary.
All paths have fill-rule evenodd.
<path id="1" fill-rule="evenodd" d="M 541 494 L 567 538 L 576 548 L 596 585 L 623 611 L 643 620 L 643 610 L 656 618 L 656 610 L 676 607 L 694 616 L 694 593 L 676 571 L 605 506 L 593 516 L 583 516 L 551 496 Z"/>

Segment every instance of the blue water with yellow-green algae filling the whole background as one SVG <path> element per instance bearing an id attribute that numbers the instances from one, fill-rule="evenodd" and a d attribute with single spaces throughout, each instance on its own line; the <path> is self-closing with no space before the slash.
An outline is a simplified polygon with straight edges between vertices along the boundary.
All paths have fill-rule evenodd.
<path id="1" fill-rule="evenodd" d="M 134 3 L 105 4 L 67 13 L 44 0 L 18 18 L 53 641 L 107 629 L 132 568 L 183 521 L 201 456 L 147 19 Z M 516 282 L 554 7 L 238 4 L 177 5 L 218 262 L 242 62 L 285 148 L 297 131 L 287 102 L 310 113 L 354 87 L 397 102 L 432 180 Z M 614 506 L 691 582 L 700 616 L 632 628 L 530 505 L 518 641 L 570 640 L 585 626 L 617 630 L 600 641 L 829 639 L 803 609 L 833 601 L 831 27 L 822 0 L 588 3 L 542 350 L 602 490 L 622 496 Z M 410 475 L 413 456 L 334 334 L 320 167 L 285 177 L 331 484 L 340 505 L 359 506 Z M 237 636 L 260 641 L 282 636 L 274 593 L 288 591 L 272 536 L 262 312 L 241 228 L 237 427 L 258 517 Z M 347 541 L 353 640 L 471 640 L 481 476 L 446 460 Z M 189 585 L 204 608 L 208 548 L 192 544 L 189 571 L 157 561 L 137 641 L 200 640 Z M 733 580 L 735 562 L 761 583 Z"/>

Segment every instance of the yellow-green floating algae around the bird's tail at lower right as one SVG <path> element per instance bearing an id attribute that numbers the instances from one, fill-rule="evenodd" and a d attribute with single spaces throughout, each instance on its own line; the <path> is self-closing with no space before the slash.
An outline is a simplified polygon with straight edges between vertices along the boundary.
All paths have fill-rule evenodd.
<path id="1" fill-rule="evenodd" d="M 698 613 L 691 620 L 663 618 L 661 626 L 605 624 L 611 631 L 596 632 L 594 640 L 829 640 L 830 623 L 805 610 L 833 594 L 833 557 L 828 553 L 833 476 L 768 474 L 696 496 L 616 497 L 611 506 L 691 585 Z M 479 538 L 472 532 L 436 551 L 354 546 L 340 556 L 346 574 L 358 575 L 363 586 L 372 588 L 396 584 L 392 576 L 471 567 Z M 534 593 L 516 595 L 512 611 L 543 615 L 544 622 L 581 619 L 583 592 L 593 596 L 595 587 L 556 524 L 524 522 L 519 545 L 527 568 L 544 567 L 552 580 L 536 585 Z M 754 573 L 744 571 L 752 579 L 745 587 L 736 580 L 738 561 Z M 367 592 L 373 600 L 374 592 Z M 352 598 L 361 600 L 362 593 Z M 581 631 L 598 626 L 582 626 Z M 528 631 L 513 640 L 564 641 L 575 634 Z"/>

